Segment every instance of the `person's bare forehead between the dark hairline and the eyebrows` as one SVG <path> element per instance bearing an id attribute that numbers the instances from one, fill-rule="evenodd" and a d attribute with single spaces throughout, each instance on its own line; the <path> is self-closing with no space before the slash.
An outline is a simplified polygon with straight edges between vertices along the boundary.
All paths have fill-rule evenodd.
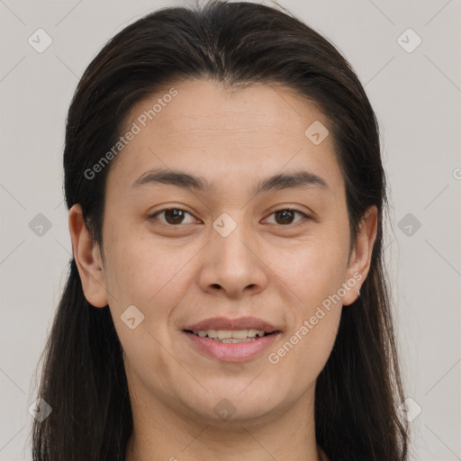
<path id="1" fill-rule="evenodd" d="M 137 134 L 115 158 L 107 190 L 129 189 L 153 167 L 240 187 L 247 178 L 307 169 L 331 189 L 342 188 L 330 135 L 320 144 L 306 135 L 312 126 L 324 135 L 329 124 L 315 104 L 282 86 L 227 91 L 206 80 L 166 86 L 131 109 L 125 131 L 136 127 Z"/>

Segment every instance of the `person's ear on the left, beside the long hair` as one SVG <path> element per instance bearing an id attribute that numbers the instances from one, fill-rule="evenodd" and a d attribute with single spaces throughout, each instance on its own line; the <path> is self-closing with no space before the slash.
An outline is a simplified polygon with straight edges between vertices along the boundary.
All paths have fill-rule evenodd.
<path id="1" fill-rule="evenodd" d="M 104 285 L 103 260 L 99 246 L 86 229 L 82 208 L 78 203 L 68 212 L 68 230 L 86 301 L 95 307 L 104 307 L 108 302 Z"/>

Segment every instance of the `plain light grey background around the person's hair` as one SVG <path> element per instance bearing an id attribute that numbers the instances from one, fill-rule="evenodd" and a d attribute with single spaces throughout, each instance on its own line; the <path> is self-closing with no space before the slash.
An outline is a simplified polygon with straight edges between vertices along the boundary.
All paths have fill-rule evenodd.
<path id="1" fill-rule="evenodd" d="M 280 4 L 336 44 L 374 106 L 390 188 L 388 267 L 414 401 L 411 459 L 459 460 L 460 1 Z M 68 105 L 105 41 L 168 5 L 182 4 L 0 0 L 1 461 L 32 459 L 33 373 L 67 279 L 61 164 Z M 52 40 L 41 53 L 28 42 L 40 28 Z M 50 221 L 42 235 L 33 231 L 39 213 Z"/>

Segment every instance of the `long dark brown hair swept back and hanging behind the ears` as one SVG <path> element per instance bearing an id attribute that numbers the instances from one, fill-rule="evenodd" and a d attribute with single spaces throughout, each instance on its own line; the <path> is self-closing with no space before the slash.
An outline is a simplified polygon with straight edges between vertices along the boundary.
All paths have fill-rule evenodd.
<path id="1" fill-rule="evenodd" d="M 331 460 L 408 459 L 404 397 L 384 270 L 387 205 L 375 113 L 356 74 L 335 47 L 276 7 L 212 0 L 158 10 L 117 33 L 90 63 L 68 111 L 64 149 L 68 209 L 80 203 L 103 247 L 104 186 L 85 172 L 122 134 L 134 104 L 188 78 L 225 86 L 252 82 L 293 88 L 330 120 L 346 183 L 351 242 L 366 208 L 378 209 L 371 267 L 315 393 L 318 443 Z M 75 259 L 42 356 L 39 395 L 52 407 L 32 428 L 34 461 L 124 460 L 132 415 L 122 347 L 108 306 L 86 301 Z"/>

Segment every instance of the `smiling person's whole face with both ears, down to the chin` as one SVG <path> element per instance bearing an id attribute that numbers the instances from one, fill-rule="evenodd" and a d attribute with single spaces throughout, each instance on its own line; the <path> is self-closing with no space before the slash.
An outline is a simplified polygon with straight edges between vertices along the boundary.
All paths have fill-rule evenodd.
<path id="1" fill-rule="evenodd" d="M 109 303 L 131 393 L 151 409 L 276 418 L 312 399 L 366 277 L 373 220 L 349 253 L 344 180 L 313 104 L 280 86 L 175 89 L 131 111 L 138 132 L 107 178 L 104 259 L 69 218 L 86 298 Z"/>

